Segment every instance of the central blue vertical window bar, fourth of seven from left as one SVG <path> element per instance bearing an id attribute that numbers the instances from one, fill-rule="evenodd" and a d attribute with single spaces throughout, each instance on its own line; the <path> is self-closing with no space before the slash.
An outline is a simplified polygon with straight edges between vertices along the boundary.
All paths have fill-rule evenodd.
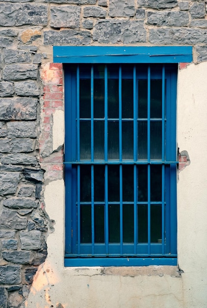
<path id="1" fill-rule="evenodd" d="M 122 66 L 119 66 L 119 161 L 122 161 Z M 123 179 L 122 165 L 119 166 L 120 182 L 120 253 L 123 254 Z"/>

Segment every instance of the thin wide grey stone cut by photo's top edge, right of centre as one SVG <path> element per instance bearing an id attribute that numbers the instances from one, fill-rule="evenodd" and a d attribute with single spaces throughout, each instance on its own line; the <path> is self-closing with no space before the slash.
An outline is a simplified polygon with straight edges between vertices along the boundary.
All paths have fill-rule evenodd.
<path id="1" fill-rule="evenodd" d="M 156 9 L 173 8 L 178 5 L 178 0 L 137 0 L 137 5 Z"/>

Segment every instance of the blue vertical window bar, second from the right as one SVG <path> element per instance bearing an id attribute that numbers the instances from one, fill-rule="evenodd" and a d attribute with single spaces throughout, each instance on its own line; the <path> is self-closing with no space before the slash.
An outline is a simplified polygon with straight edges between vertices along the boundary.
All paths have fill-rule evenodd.
<path id="1" fill-rule="evenodd" d="M 151 71 L 148 65 L 147 78 L 147 160 L 148 160 L 148 254 L 151 253 L 151 174 L 150 174 L 150 88 Z"/>

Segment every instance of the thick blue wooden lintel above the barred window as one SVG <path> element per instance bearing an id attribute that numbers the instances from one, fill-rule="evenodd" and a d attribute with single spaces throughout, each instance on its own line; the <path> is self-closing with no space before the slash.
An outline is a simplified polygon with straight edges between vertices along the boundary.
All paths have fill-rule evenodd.
<path id="1" fill-rule="evenodd" d="M 192 62 L 192 46 L 54 46 L 56 63 Z"/>

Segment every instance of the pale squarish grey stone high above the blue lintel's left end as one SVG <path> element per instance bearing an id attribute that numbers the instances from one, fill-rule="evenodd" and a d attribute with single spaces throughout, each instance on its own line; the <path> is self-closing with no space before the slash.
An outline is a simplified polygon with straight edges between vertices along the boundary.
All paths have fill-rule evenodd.
<path id="1" fill-rule="evenodd" d="M 51 27 L 78 28 L 80 25 L 80 7 L 75 5 L 52 6 Z"/>

